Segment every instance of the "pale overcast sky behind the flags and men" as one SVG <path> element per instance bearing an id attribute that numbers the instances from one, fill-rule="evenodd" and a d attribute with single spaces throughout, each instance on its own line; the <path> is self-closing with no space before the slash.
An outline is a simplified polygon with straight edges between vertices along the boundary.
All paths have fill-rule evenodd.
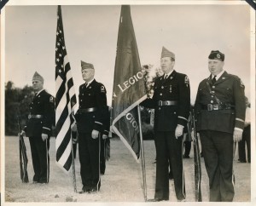
<path id="1" fill-rule="evenodd" d="M 80 61 L 94 65 L 96 81 L 105 85 L 111 106 L 120 5 L 62 6 L 62 20 L 75 85 L 84 83 Z M 5 82 L 32 84 L 34 72 L 55 95 L 55 32 L 57 6 L 5 7 Z M 210 73 L 211 50 L 225 54 L 224 70 L 241 77 L 250 100 L 250 6 L 131 5 L 141 65 L 160 66 L 162 47 L 176 55 L 174 69 L 189 76 L 191 103 L 198 84 Z M 253 76 L 254 77 L 254 76 Z"/>

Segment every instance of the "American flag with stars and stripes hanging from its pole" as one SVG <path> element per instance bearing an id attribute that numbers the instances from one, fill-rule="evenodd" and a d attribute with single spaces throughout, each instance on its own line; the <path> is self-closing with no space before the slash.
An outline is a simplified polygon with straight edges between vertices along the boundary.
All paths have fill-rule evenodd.
<path id="1" fill-rule="evenodd" d="M 62 25 L 61 6 L 58 6 L 58 20 L 55 45 L 55 124 L 56 124 L 56 163 L 69 171 L 72 165 L 72 137 L 74 106 L 77 103 L 73 78 L 67 59 L 64 31 Z"/>

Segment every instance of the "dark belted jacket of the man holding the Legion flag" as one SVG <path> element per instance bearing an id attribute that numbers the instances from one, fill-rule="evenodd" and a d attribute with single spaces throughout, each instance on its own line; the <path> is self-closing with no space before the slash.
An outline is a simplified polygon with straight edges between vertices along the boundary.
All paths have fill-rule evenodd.
<path id="1" fill-rule="evenodd" d="M 176 100 L 177 105 L 158 106 L 160 100 Z M 164 76 L 157 77 L 153 98 L 144 100 L 142 106 L 154 108 L 156 131 L 174 131 L 177 124 L 186 127 L 190 108 L 189 78 L 176 71 L 173 71 L 167 79 L 164 79 Z"/>

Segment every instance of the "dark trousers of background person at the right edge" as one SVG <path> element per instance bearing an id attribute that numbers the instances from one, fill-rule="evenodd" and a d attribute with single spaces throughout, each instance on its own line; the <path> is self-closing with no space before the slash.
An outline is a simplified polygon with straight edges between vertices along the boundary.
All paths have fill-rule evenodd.
<path id="1" fill-rule="evenodd" d="M 247 144 L 247 158 L 245 144 Z M 248 125 L 243 129 L 241 141 L 238 142 L 239 160 L 241 162 L 251 163 L 251 126 Z"/>

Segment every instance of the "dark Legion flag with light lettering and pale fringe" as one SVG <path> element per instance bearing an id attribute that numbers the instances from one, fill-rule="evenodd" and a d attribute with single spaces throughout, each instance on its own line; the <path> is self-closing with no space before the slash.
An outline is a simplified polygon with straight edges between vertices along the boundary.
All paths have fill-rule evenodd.
<path id="1" fill-rule="evenodd" d="M 114 67 L 112 129 L 137 162 L 140 157 L 140 135 L 136 106 L 146 97 L 131 9 L 129 5 L 123 5 Z"/>

